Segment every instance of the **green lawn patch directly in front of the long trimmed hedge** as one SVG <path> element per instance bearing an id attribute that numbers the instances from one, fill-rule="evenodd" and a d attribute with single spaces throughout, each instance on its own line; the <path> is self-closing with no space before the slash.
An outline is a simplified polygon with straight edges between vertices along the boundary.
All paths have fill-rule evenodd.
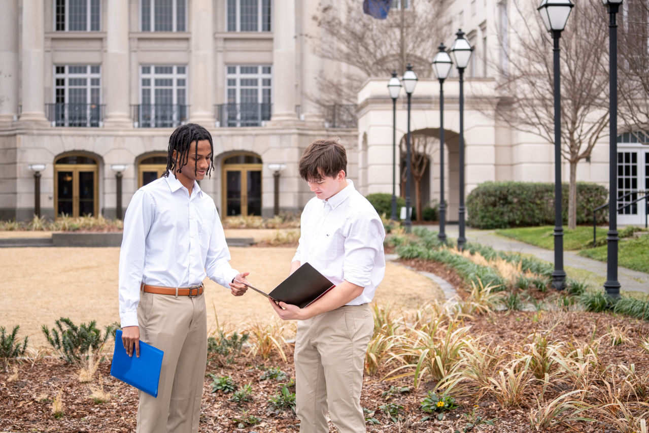
<path id="1" fill-rule="evenodd" d="M 607 227 L 597 228 L 597 238 L 606 238 Z M 554 227 L 545 225 L 542 227 L 520 227 L 519 229 L 496 230 L 496 234 L 507 238 L 530 243 L 545 249 L 554 249 Z M 574 230 L 563 229 L 563 248 L 569 251 L 587 247 L 593 243 L 593 227 L 580 226 Z"/>

